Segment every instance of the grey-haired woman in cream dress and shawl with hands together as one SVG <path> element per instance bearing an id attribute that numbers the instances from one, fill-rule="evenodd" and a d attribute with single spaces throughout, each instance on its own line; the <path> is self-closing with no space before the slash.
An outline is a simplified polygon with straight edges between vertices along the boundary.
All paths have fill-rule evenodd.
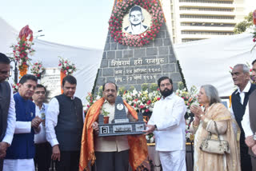
<path id="1" fill-rule="evenodd" d="M 194 171 L 240 171 L 240 157 L 238 153 L 237 137 L 234 133 L 230 111 L 222 105 L 218 91 L 213 85 L 202 85 L 198 93 L 198 105 L 192 105 L 194 121 L 190 131 L 194 133 Z M 218 133 L 214 122 L 217 125 Z M 203 139 L 212 133 L 212 139 L 228 141 L 230 153 L 206 153 L 200 149 Z"/>

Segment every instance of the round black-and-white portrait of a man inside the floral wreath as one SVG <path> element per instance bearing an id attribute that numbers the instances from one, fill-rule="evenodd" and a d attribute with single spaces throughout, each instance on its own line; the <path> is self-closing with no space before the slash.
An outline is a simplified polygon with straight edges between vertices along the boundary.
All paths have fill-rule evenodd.
<path id="1" fill-rule="evenodd" d="M 149 12 L 141 6 L 133 6 L 123 18 L 122 31 L 127 34 L 142 34 L 150 28 L 151 17 Z"/>

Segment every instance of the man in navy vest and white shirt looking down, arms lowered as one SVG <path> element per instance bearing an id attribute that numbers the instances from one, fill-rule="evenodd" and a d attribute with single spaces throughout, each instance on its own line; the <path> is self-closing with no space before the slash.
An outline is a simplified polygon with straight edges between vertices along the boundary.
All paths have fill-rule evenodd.
<path id="1" fill-rule="evenodd" d="M 76 86 L 73 76 L 63 78 L 63 93 L 51 99 L 46 113 L 46 140 L 57 171 L 78 170 L 84 113 L 82 101 L 74 97 Z"/>

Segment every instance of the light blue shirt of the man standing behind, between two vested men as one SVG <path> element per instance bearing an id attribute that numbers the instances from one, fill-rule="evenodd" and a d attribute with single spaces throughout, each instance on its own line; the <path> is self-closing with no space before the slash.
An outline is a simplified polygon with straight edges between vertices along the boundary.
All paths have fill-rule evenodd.
<path id="1" fill-rule="evenodd" d="M 39 109 L 38 105 L 35 106 L 35 116 L 38 116 L 42 118 L 43 120 L 46 119 L 46 112 L 48 109 L 48 105 L 45 103 L 42 103 L 42 108 Z M 40 124 L 42 129 L 40 133 L 34 135 L 34 143 L 39 144 L 39 143 L 44 143 L 46 142 L 46 126 Z"/>

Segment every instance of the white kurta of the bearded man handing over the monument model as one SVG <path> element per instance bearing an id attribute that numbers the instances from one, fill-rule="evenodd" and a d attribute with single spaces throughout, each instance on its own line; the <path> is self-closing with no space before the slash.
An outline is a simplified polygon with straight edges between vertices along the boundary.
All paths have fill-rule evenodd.
<path id="1" fill-rule="evenodd" d="M 157 125 L 154 131 L 156 150 L 186 150 L 185 113 L 184 100 L 174 93 L 154 104 L 148 125 Z"/>

